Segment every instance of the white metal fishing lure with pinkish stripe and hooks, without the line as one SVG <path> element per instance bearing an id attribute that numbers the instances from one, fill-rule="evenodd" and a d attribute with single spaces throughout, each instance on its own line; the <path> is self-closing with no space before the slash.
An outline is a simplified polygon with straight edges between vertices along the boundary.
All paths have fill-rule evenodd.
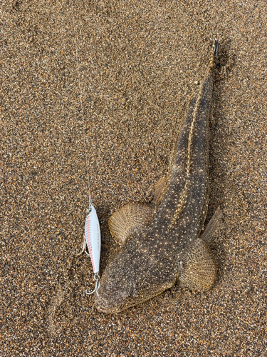
<path id="1" fill-rule="evenodd" d="M 98 293 L 98 288 L 100 284 L 99 281 L 99 263 L 100 263 L 100 250 L 101 250 L 101 235 L 100 235 L 100 226 L 98 221 L 98 215 L 96 214 L 95 207 L 90 204 L 87 211 L 86 221 L 85 221 L 85 241 L 88 246 L 88 251 L 91 258 L 94 279 L 95 279 L 95 288 L 91 293 Z M 85 251 L 86 253 L 86 251 Z M 86 291 L 87 294 L 88 293 Z"/>

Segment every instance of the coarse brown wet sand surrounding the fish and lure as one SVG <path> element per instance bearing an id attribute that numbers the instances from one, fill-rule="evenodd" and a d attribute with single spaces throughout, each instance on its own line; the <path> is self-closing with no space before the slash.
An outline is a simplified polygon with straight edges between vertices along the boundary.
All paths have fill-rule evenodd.
<path id="1" fill-rule="evenodd" d="M 88 186 L 69 1 L 2 1 L 0 356 L 267 356 L 266 1 L 76 1 L 101 272 L 108 218 L 166 174 L 211 43 L 208 219 L 224 230 L 208 293 L 174 286 L 98 313 L 83 242 Z"/>

